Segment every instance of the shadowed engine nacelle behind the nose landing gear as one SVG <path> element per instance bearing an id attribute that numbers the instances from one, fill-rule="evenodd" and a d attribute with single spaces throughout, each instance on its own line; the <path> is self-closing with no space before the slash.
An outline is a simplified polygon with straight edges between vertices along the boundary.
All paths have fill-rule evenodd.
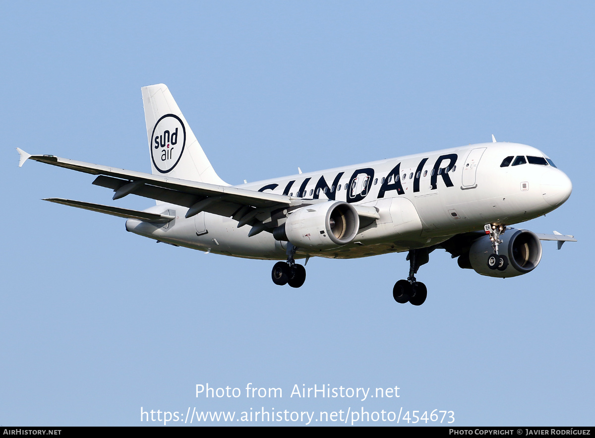
<path id="1" fill-rule="evenodd" d="M 533 271 L 541 260 L 541 242 L 529 230 L 508 229 L 500 234 L 502 243 L 499 254 L 508 257 L 508 267 L 504 271 L 491 270 L 487 259 L 493 254 L 490 236 L 483 236 L 475 240 L 469 249 L 469 262 L 471 267 L 483 276 L 488 277 L 516 277 Z M 459 266 L 461 262 L 459 262 Z"/>

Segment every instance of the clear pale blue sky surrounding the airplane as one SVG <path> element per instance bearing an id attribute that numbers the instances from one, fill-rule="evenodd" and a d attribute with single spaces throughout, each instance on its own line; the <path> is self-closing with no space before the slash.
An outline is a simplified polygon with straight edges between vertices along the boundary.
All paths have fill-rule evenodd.
<path id="1" fill-rule="evenodd" d="M 593 424 L 591 2 L 4 2 L 0 12 L 0 424 L 136 426 L 147 424 L 141 406 Z M 124 220 L 40 201 L 112 194 L 92 176 L 18 168 L 16 147 L 150 171 L 140 87 L 154 83 L 170 87 L 232 184 L 491 134 L 536 146 L 574 190 L 522 226 L 579 242 L 545 242 L 536 270 L 506 280 L 434 251 L 416 307 L 391 295 L 405 254 L 313 258 L 293 290 L 271 282 L 273 262 L 155 244 Z M 283 398 L 196 398 L 206 383 L 281 387 Z M 398 386 L 400 397 L 290 398 L 295 384 Z"/>

